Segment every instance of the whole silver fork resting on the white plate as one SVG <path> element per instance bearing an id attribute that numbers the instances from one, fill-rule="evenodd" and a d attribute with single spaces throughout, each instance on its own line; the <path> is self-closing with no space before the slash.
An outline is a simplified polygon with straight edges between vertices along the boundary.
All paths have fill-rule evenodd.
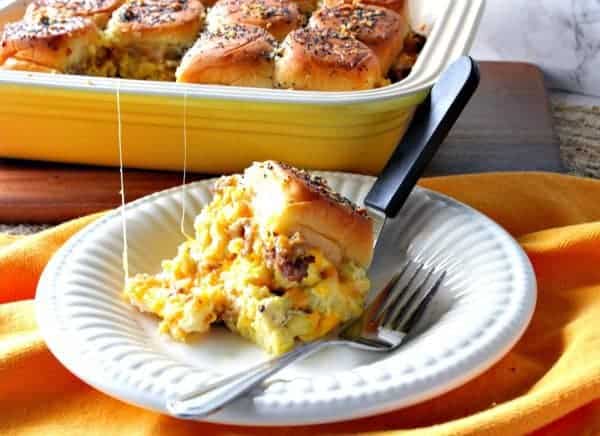
<path id="1" fill-rule="evenodd" d="M 374 294 L 360 318 L 343 324 L 327 339 L 298 346 L 206 387 L 169 398 L 167 409 L 179 418 L 208 416 L 286 366 L 327 347 L 348 346 L 381 353 L 397 350 L 423 319 L 445 275 L 445 271 L 436 272 L 422 263 L 407 260 L 387 285 Z"/>

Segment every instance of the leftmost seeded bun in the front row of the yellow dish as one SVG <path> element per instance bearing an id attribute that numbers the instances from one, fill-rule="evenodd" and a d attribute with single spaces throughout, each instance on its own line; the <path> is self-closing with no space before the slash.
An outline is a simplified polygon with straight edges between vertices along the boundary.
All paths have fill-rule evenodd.
<path id="1" fill-rule="evenodd" d="M 43 17 L 40 21 L 17 21 L 4 27 L 0 64 L 59 72 L 83 72 L 94 58 L 100 33 L 93 21 L 80 17 Z"/>

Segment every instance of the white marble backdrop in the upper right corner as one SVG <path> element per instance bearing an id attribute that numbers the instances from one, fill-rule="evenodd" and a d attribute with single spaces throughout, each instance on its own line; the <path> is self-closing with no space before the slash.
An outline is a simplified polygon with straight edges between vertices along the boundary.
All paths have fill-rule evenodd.
<path id="1" fill-rule="evenodd" d="M 549 87 L 600 97 L 600 1 L 487 0 L 473 54 L 537 64 Z"/>

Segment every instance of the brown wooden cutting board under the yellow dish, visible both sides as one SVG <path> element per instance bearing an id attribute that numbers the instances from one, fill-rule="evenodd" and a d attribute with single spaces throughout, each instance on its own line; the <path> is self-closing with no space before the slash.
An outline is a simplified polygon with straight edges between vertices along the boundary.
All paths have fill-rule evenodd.
<path id="1" fill-rule="evenodd" d="M 480 66 L 479 89 L 427 175 L 562 171 L 539 69 L 505 62 Z M 192 174 L 188 180 L 205 177 Z M 125 183 L 131 201 L 180 184 L 181 174 L 127 170 Z M 119 189 L 115 168 L 0 159 L 0 223 L 57 223 L 110 209 L 119 204 Z"/>

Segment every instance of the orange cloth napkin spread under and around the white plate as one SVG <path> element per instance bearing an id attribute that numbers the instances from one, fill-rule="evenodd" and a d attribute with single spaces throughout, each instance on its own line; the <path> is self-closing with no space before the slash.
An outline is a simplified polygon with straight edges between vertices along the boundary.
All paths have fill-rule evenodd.
<path id="1" fill-rule="evenodd" d="M 92 216 L 35 236 L 0 236 L 0 434 L 600 434 L 600 181 L 512 173 L 421 184 L 503 225 L 535 267 L 539 299 L 533 321 L 483 375 L 404 410 L 302 428 L 179 421 L 121 403 L 58 363 L 33 314 L 31 298 L 49 256 Z"/>

